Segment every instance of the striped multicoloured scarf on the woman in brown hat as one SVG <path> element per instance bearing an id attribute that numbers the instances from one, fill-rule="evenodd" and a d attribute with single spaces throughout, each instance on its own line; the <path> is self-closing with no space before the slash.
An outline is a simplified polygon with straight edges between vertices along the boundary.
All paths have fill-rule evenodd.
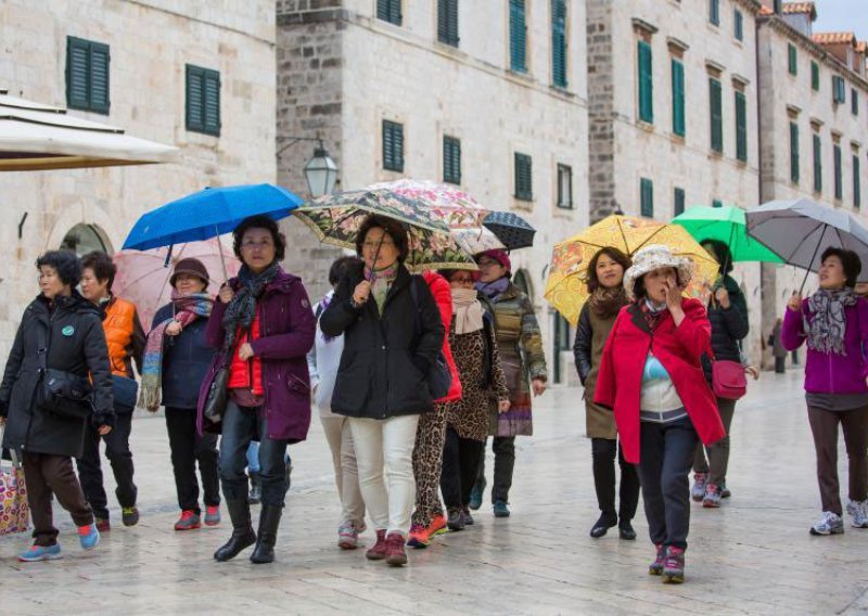
<path id="1" fill-rule="evenodd" d="M 186 328 L 200 317 L 208 318 L 214 307 L 214 298 L 207 293 L 194 293 L 183 297 L 177 291 L 171 292 L 175 317 L 166 319 L 148 334 L 144 345 L 144 365 L 142 367 L 142 385 L 139 394 L 139 406 L 149 411 L 159 408 L 159 389 L 163 384 L 163 349 L 166 343 L 166 328 L 178 321 Z"/>

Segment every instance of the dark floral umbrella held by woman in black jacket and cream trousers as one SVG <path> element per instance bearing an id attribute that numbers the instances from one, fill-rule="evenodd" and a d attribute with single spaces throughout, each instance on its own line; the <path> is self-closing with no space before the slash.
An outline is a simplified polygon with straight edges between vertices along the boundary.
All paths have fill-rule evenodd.
<path id="1" fill-rule="evenodd" d="M 477 269 L 472 255 L 456 243 L 446 223 L 435 218 L 425 203 L 390 190 L 326 195 L 293 210 L 321 242 L 353 251 L 359 227 L 371 214 L 397 220 L 407 230 L 409 254 L 405 265 L 411 271 Z"/>

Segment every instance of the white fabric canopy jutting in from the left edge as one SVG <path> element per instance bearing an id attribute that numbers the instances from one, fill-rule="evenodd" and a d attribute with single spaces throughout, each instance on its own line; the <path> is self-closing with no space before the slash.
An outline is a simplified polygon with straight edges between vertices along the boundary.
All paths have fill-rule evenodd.
<path id="1" fill-rule="evenodd" d="M 177 150 L 0 90 L 0 171 L 164 163 Z"/>

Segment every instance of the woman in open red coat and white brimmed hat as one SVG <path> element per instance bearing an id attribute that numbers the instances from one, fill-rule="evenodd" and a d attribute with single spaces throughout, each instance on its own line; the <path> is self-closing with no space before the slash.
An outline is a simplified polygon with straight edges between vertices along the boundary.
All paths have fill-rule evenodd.
<path id="1" fill-rule="evenodd" d="M 666 246 L 646 246 L 624 274 L 631 301 L 609 335 L 595 402 L 614 409 L 624 458 L 638 464 L 656 557 L 649 574 L 684 581 L 690 526 L 688 474 L 698 440 L 726 435 L 705 381 L 711 324 L 698 299 L 684 299 L 693 265 Z"/>

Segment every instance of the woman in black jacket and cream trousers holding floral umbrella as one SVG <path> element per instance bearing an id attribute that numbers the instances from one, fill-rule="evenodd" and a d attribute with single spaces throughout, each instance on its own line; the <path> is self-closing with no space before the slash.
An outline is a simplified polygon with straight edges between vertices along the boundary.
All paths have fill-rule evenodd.
<path id="1" fill-rule="evenodd" d="M 344 275 L 320 317 L 326 335 L 344 335 L 332 411 L 349 418 L 361 496 L 376 530 L 366 556 L 390 565 L 407 563 L 416 428 L 433 408 L 427 375 L 444 337 L 431 291 L 404 267 L 407 251 L 398 222 L 366 218 L 356 239 L 365 264 Z"/>

